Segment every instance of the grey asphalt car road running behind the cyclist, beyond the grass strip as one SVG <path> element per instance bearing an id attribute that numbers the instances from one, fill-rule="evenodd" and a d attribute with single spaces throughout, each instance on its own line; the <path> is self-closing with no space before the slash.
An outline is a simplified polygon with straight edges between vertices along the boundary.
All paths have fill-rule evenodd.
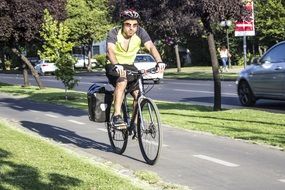
<path id="1" fill-rule="evenodd" d="M 87 92 L 93 82 L 107 84 L 107 78 L 102 73 L 81 73 L 76 78 L 80 80 L 75 90 Z M 54 76 L 41 77 L 44 86 L 63 88 L 61 81 Z M 22 75 L 0 73 L 0 82 L 23 84 Z M 30 83 L 36 85 L 30 76 Z M 222 81 L 222 108 L 241 108 L 235 81 Z M 213 81 L 207 80 L 177 80 L 164 79 L 161 84 L 154 85 L 148 95 L 156 100 L 171 102 L 188 102 L 192 104 L 213 106 L 214 87 Z M 259 100 L 255 108 L 285 113 L 285 101 Z"/>

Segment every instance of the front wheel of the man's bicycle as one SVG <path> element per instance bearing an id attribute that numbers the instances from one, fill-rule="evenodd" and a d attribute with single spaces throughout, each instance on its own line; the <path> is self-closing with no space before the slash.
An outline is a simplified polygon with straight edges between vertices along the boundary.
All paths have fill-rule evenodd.
<path id="1" fill-rule="evenodd" d="M 161 151 L 162 129 L 158 108 L 150 99 L 143 99 L 140 103 L 138 120 L 138 140 L 145 161 L 154 165 Z"/>

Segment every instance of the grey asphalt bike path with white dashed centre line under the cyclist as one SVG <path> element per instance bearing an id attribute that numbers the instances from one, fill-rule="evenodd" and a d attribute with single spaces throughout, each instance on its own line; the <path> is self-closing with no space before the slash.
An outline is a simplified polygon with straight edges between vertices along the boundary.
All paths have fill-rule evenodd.
<path id="1" fill-rule="evenodd" d="M 26 131 L 194 190 L 285 189 L 285 153 L 276 149 L 164 126 L 160 159 L 149 166 L 137 141 L 129 139 L 126 152 L 114 154 L 104 123 L 89 121 L 86 111 L 1 93 L 0 107 L 0 117 L 18 121 Z"/>

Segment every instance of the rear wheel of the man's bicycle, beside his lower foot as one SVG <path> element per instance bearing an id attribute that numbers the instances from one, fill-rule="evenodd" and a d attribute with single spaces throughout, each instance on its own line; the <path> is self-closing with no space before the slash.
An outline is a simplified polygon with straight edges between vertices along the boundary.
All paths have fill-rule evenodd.
<path id="1" fill-rule="evenodd" d="M 113 113 L 114 113 L 114 106 L 112 105 L 111 111 L 110 111 L 110 120 L 107 122 L 107 131 L 108 131 L 108 137 L 110 140 L 111 147 L 113 151 L 117 154 L 123 154 L 126 150 L 127 144 L 128 144 L 128 130 L 127 129 L 116 129 L 113 126 Z M 123 109 L 122 111 L 123 118 L 125 118 L 126 111 Z"/>

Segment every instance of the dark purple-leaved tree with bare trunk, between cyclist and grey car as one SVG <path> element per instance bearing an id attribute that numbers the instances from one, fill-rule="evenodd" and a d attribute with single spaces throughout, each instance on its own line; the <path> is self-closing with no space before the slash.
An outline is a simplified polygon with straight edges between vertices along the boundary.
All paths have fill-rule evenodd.
<path id="1" fill-rule="evenodd" d="M 143 15 L 144 23 L 147 23 L 148 31 L 157 35 L 157 38 L 171 36 L 181 39 L 199 32 L 207 36 L 214 79 L 214 110 L 221 110 L 221 81 L 213 29 L 222 20 L 239 19 L 242 1 L 126 0 L 123 1 L 123 5 L 138 8 Z"/>

